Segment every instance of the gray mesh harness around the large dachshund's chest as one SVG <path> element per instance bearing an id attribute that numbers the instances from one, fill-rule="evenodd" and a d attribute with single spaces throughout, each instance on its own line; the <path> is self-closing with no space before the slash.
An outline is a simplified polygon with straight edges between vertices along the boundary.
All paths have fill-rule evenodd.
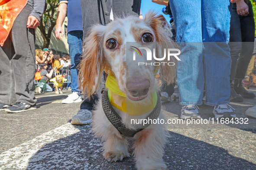
<path id="1" fill-rule="evenodd" d="M 117 114 L 117 112 L 113 109 L 112 105 L 109 102 L 107 91 L 105 89 L 102 89 L 102 107 L 104 110 L 105 115 L 107 116 L 107 119 L 112 123 L 112 125 L 120 132 L 121 135 L 124 135 L 126 137 L 133 137 L 137 132 L 145 129 L 148 127 L 151 123 L 145 124 L 144 126 L 141 125 L 140 129 L 132 130 L 127 129 L 126 126 L 122 123 L 122 118 Z M 152 112 L 149 114 L 149 116 L 146 119 L 157 119 L 159 116 L 161 110 L 161 102 L 159 94 L 157 94 L 157 103 L 156 107 L 152 110 Z M 148 121 L 149 122 L 149 121 Z"/>

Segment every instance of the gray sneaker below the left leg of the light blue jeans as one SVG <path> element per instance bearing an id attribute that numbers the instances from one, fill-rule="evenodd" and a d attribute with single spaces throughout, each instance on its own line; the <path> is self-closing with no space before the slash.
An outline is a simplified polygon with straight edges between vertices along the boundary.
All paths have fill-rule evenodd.
<path id="1" fill-rule="evenodd" d="M 182 106 L 181 119 L 201 119 L 198 109 L 198 106 L 194 104 Z"/>

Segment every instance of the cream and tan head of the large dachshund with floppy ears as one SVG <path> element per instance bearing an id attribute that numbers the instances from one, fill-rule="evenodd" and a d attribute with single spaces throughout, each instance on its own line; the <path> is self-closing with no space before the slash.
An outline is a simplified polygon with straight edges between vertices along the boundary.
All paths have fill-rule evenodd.
<path id="1" fill-rule="evenodd" d="M 107 26 L 96 25 L 84 43 L 84 59 L 80 64 L 80 79 L 87 94 L 92 94 L 103 70 L 117 79 L 120 90 L 129 100 L 143 101 L 150 91 L 155 91 L 154 79 L 157 66 L 139 65 L 138 62 L 148 63 L 146 50 L 141 50 L 142 56 L 133 60 L 133 49 L 126 47 L 126 42 L 136 42 L 139 47 L 156 47 L 156 42 L 165 42 L 161 50 L 174 48 L 169 32 L 162 28 L 163 16 L 149 13 L 145 19 L 134 16 L 117 19 Z M 170 44 L 172 46 L 170 47 Z M 129 44 L 130 46 L 130 44 Z M 162 51 L 156 54 L 162 58 Z M 161 51 L 161 52 L 160 52 Z M 129 58 L 128 58 L 129 57 Z M 155 59 L 150 61 L 154 63 Z M 162 62 L 174 62 L 166 60 Z M 175 75 L 175 66 L 160 66 L 161 73 L 167 82 Z"/>

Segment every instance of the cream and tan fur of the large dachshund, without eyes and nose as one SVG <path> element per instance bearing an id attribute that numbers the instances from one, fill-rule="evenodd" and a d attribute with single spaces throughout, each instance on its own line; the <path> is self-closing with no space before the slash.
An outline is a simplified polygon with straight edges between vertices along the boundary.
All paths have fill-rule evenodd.
<path id="1" fill-rule="evenodd" d="M 152 34 L 155 42 L 163 42 L 159 44 L 162 46 L 160 47 L 161 49 L 175 48 L 174 45 L 169 47 L 172 41 L 169 37 L 169 31 L 165 31 L 163 28 L 164 22 L 162 18 L 163 16 L 161 17 L 156 15 L 156 13 L 150 12 L 146 14 L 144 19 L 129 16 L 125 19 L 117 19 L 107 26 L 94 26 L 85 40 L 84 59 L 80 64 L 79 76 L 80 79 L 83 79 L 81 86 L 84 92 L 89 96 L 96 90 L 97 85 L 100 84 L 100 73 L 103 70 L 116 76 L 117 84 L 126 96 L 129 95 L 126 93 L 126 81 L 140 80 L 141 77 L 149 79 L 151 83 L 149 92 L 158 91 L 157 85 L 154 83 L 154 68 L 149 66 L 133 67 L 133 64 L 126 60 L 126 55 L 133 51 L 126 51 L 125 44 L 126 42 L 136 42 L 136 37 L 141 36 L 143 31 L 146 31 Z M 117 39 L 119 49 L 110 50 L 107 48 L 106 41 L 109 38 Z M 145 54 L 143 55 L 145 56 Z M 159 51 L 157 55 L 161 56 L 162 52 Z M 146 59 L 145 57 L 138 57 L 138 60 L 145 61 Z M 176 63 L 174 59 L 169 62 Z M 175 67 L 161 66 L 160 72 L 165 81 L 171 82 L 175 76 Z M 134 105 L 149 103 L 152 100 L 149 96 L 143 99 L 143 101 L 134 101 Z M 120 97 L 113 95 L 113 98 L 118 100 Z M 131 119 L 145 119 L 151 112 L 134 116 L 126 114 L 117 108 L 114 109 L 129 129 L 137 128 L 137 125 L 131 124 Z M 162 110 L 159 114 L 159 119 L 164 119 Z M 98 101 L 96 110 L 93 111 L 92 132 L 104 141 L 103 156 L 107 161 L 116 162 L 123 160 L 125 157 L 130 157 L 126 137 L 120 135 L 107 119 L 101 105 L 101 100 Z M 137 169 L 162 170 L 166 168 L 162 156 L 168 134 L 163 124 L 152 124 L 148 128 L 136 133 L 134 136 L 136 142 L 133 145 L 133 154 Z"/>

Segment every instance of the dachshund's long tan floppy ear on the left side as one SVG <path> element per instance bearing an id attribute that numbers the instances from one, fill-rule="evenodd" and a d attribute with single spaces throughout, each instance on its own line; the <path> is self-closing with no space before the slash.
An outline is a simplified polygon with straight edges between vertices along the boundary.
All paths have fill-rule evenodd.
<path id="1" fill-rule="evenodd" d="M 89 97 L 97 90 L 102 72 L 103 38 L 106 27 L 94 25 L 85 38 L 82 60 L 79 64 L 80 88 Z"/>

